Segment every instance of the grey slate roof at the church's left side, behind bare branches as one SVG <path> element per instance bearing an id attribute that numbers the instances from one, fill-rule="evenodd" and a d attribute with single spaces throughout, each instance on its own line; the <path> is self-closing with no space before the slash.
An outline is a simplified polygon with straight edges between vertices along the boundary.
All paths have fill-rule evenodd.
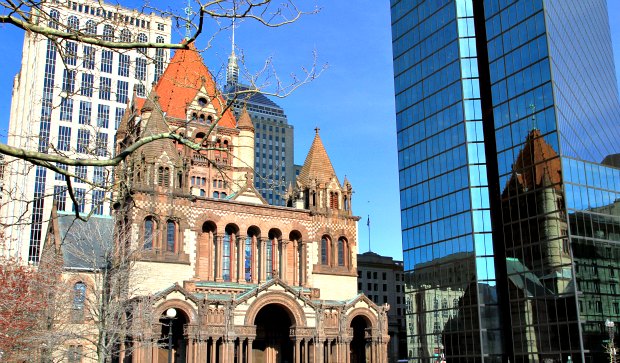
<path id="1" fill-rule="evenodd" d="M 60 247 L 64 266 L 73 269 L 102 269 L 114 248 L 114 219 L 92 216 L 87 222 L 73 214 L 58 214 Z"/>

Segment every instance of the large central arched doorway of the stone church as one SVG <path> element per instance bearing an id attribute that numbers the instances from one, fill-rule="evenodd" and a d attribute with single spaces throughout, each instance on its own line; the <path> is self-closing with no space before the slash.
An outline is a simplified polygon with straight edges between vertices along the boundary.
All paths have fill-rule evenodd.
<path id="1" fill-rule="evenodd" d="M 252 345 L 254 363 L 292 363 L 293 342 L 290 328 L 293 319 L 282 305 L 264 306 L 254 319 L 256 339 Z"/>

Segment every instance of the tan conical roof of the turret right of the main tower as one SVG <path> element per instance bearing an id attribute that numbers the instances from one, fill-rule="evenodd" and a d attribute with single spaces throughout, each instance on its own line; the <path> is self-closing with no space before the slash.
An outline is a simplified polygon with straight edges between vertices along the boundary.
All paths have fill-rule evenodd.
<path id="1" fill-rule="evenodd" d="M 338 181 L 332 162 L 319 136 L 319 129 L 317 128 L 315 131 L 316 134 L 310 146 L 310 151 L 297 177 L 297 181 L 306 186 L 310 186 L 314 180 L 319 183 L 328 183 L 332 178 L 335 178 L 336 181 Z M 338 182 L 338 184 L 340 184 L 340 182 Z"/>

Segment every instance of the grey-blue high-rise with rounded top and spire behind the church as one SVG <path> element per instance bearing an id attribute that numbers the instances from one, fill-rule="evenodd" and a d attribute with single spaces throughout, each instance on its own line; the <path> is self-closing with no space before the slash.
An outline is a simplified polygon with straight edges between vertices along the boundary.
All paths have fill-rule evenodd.
<path id="1" fill-rule="evenodd" d="M 269 204 L 285 205 L 287 188 L 296 178 L 293 125 L 288 124 L 282 107 L 255 86 L 239 83 L 239 64 L 234 47 L 233 39 L 224 95 L 233 101 L 235 116 L 239 117 L 245 108 L 256 128 L 254 186 Z"/>

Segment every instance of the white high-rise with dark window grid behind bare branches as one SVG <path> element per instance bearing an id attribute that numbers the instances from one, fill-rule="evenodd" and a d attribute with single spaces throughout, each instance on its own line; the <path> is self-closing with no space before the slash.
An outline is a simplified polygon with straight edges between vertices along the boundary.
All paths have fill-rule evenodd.
<path id="1" fill-rule="evenodd" d="M 100 36 L 104 41 L 170 43 L 169 18 L 100 1 L 45 1 L 34 16 L 50 28 Z M 132 93 L 145 97 L 167 62 L 164 49 L 115 50 L 25 32 L 21 70 L 13 85 L 8 144 L 75 158 L 109 157 Z M 7 159 L 2 252 L 38 261 L 52 201 L 59 210 L 110 214 L 109 195 L 93 186 L 111 180 L 110 170 L 72 167 L 69 172 L 75 175 L 71 179 L 77 205 L 62 174 Z"/>

